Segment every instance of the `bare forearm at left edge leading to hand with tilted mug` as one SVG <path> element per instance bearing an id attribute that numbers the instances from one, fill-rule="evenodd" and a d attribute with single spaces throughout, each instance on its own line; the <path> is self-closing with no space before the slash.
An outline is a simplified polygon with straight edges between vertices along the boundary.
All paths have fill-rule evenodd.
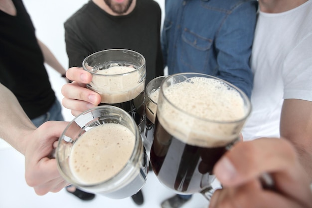
<path id="1" fill-rule="evenodd" d="M 36 127 L 19 105 L 13 93 L 0 83 L 0 138 L 24 154 L 25 135 Z M 5 99 L 3 99 L 5 98 Z"/>

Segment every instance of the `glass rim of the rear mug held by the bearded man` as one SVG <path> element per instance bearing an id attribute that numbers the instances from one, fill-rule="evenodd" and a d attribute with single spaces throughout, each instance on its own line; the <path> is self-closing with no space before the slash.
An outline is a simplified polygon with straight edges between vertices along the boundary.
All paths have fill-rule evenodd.
<path id="1" fill-rule="evenodd" d="M 100 53 L 103 53 L 103 52 L 109 52 L 109 51 L 126 51 L 126 52 L 131 52 L 131 53 L 135 53 L 135 54 L 138 54 L 142 60 L 143 60 L 143 63 L 140 65 L 140 67 L 138 67 L 137 69 L 133 70 L 133 71 L 130 71 L 130 72 L 127 72 L 127 73 L 121 73 L 121 74 L 98 74 L 96 72 L 93 72 L 89 69 L 87 69 L 87 67 L 85 66 L 85 64 L 87 63 L 87 60 L 92 57 L 92 56 L 95 56 L 97 54 L 100 54 Z M 120 76 L 120 75 L 128 75 L 128 74 L 131 74 L 131 73 L 134 73 L 134 72 L 137 72 L 137 71 L 140 71 L 144 66 L 146 65 L 146 60 L 145 60 L 145 57 L 137 52 L 137 51 L 134 51 L 134 50 L 129 50 L 129 49 L 122 49 L 122 48 L 114 48 L 114 49 L 106 49 L 106 50 L 100 50 L 100 51 L 97 51 L 97 52 L 94 52 L 90 55 L 88 55 L 83 61 L 82 61 L 82 68 L 83 70 L 85 71 L 88 71 L 90 72 L 92 75 L 96 75 L 96 76 Z M 93 69 L 94 67 L 92 67 Z"/>

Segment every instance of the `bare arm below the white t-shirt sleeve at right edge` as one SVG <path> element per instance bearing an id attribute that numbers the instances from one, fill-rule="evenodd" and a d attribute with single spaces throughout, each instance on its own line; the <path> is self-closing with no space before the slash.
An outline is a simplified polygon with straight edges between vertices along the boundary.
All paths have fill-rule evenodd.
<path id="1" fill-rule="evenodd" d="M 312 102 L 284 100 L 280 131 L 295 146 L 300 163 L 312 181 Z"/>

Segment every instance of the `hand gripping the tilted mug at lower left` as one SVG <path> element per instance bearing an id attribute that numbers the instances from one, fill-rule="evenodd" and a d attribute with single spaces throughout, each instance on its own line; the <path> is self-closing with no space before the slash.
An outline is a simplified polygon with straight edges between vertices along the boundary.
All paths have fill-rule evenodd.
<path id="1" fill-rule="evenodd" d="M 37 195 L 59 192 L 68 185 L 58 172 L 56 160 L 50 158 L 67 124 L 48 121 L 25 135 L 25 180 Z"/>

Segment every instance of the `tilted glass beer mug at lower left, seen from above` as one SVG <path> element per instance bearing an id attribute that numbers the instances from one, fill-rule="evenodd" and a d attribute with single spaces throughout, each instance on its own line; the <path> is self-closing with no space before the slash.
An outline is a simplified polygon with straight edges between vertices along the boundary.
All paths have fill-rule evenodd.
<path id="1" fill-rule="evenodd" d="M 89 109 L 73 119 L 56 148 L 61 176 L 112 199 L 136 194 L 148 175 L 148 157 L 132 117 L 115 106 Z"/>

